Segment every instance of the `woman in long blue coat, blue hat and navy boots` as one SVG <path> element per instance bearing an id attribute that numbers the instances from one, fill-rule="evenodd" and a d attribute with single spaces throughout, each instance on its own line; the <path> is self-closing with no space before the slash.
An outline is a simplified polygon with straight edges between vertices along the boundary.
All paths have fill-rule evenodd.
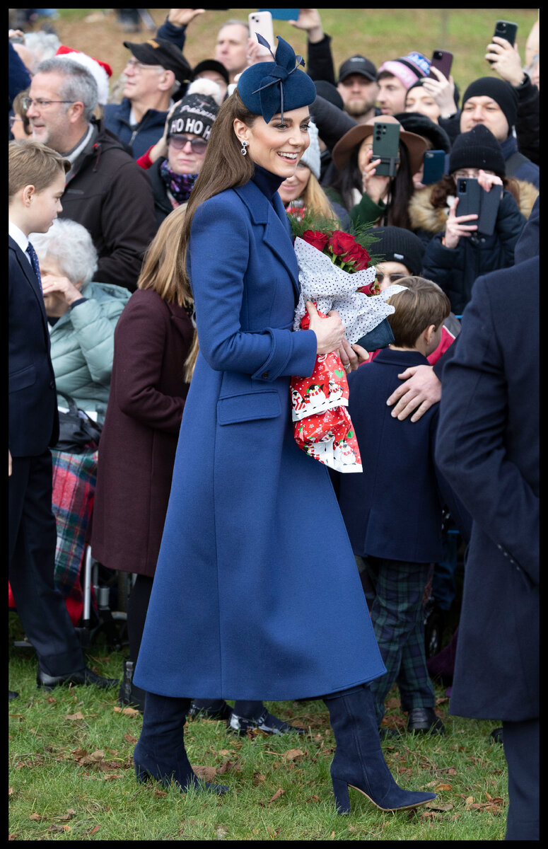
<path id="1" fill-rule="evenodd" d="M 393 810 L 433 795 L 401 790 L 384 762 L 364 686 L 383 661 L 327 468 L 297 447 L 290 415 L 291 375 L 344 344 L 338 314 L 312 305 L 312 332 L 291 332 L 298 267 L 277 189 L 308 146 L 315 97 L 282 39 L 274 62 L 244 71 L 174 245 L 199 355 L 134 678 L 147 691 L 134 762 L 138 778 L 186 790 L 191 697 L 323 694 L 339 810 L 348 784 Z"/>

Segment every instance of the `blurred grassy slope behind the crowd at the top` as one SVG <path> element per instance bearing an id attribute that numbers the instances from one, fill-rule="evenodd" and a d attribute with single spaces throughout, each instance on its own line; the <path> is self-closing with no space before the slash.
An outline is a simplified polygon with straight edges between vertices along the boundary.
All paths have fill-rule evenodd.
<path id="1" fill-rule="evenodd" d="M 208 10 L 193 20 L 187 29 L 184 53 L 192 65 L 213 57 L 219 26 L 225 20 L 247 20 L 253 8 Z M 164 22 L 169 9 L 150 8 L 156 25 Z M 104 14 L 100 14 L 104 13 Z M 322 8 L 324 31 L 333 37 L 335 68 L 354 53 L 362 53 L 377 65 L 396 59 L 411 50 L 428 57 L 433 49 L 454 53 L 453 76 L 461 93 L 478 76 L 493 72 L 484 59 L 485 48 L 498 18 L 518 25 L 517 45 L 522 60 L 529 31 L 538 18 L 536 8 Z M 127 51 L 122 42 L 143 42 L 150 37 L 144 28 L 129 36 L 115 20 L 113 9 L 59 9 L 54 21 L 59 38 L 72 48 L 84 50 L 109 62 L 113 80 L 126 64 Z M 274 21 L 274 35 L 285 38 L 297 53 L 306 58 L 306 37 L 287 21 Z M 495 75 L 496 76 L 496 75 Z M 112 81 L 111 81 L 112 82 Z"/>

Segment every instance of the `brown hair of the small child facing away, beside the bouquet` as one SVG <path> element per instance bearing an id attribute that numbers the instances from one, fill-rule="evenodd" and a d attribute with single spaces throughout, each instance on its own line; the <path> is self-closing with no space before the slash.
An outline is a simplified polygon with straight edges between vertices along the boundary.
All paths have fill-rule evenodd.
<path id="1" fill-rule="evenodd" d="M 405 292 L 389 297 L 395 312 L 388 317 L 398 348 L 414 348 L 418 337 L 431 324 L 437 330 L 451 311 L 450 300 L 437 283 L 423 277 L 410 276 L 398 280 Z"/>

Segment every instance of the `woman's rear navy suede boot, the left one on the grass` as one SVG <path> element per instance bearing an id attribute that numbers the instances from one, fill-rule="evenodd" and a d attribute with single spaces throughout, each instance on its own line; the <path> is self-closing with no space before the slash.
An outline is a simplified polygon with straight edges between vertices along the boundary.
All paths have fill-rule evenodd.
<path id="1" fill-rule="evenodd" d="M 182 793 L 189 787 L 226 793 L 224 784 L 208 784 L 198 778 L 190 765 L 183 741 L 185 717 L 190 699 L 147 693 L 143 730 L 133 752 L 138 781 L 154 779 L 166 787 L 176 782 Z"/>

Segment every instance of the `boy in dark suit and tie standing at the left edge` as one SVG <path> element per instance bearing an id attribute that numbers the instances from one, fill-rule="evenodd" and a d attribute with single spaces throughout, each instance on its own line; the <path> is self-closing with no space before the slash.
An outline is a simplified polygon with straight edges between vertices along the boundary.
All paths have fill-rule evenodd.
<path id="1" fill-rule="evenodd" d="M 52 458 L 59 437 L 40 269 L 29 241 L 61 211 L 68 160 L 33 140 L 9 143 L 9 582 L 25 634 L 36 649 L 36 682 L 117 683 L 87 669 L 64 598 L 55 588 L 57 531 Z M 17 695 L 10 692 L 10 699 Z"/>

